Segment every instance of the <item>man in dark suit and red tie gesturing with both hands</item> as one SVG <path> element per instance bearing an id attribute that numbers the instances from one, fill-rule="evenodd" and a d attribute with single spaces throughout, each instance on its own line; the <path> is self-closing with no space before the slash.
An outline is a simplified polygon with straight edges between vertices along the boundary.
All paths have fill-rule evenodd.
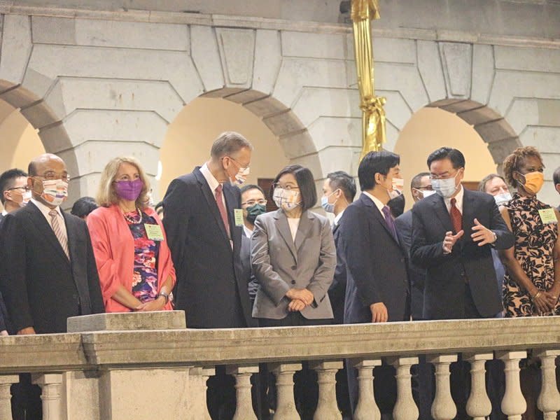
<path id="1" fill-rule="evenodd" d="M 507 249 L 514 237 L 493 197 L 461 186 L 463 153 L 439 148 L 428 156 L 437 194 L 412 209 L 412 262 L 426 269 L 424 319 L 490 318 L 502 310 L 491 248 Z M 468 366 L 451 365 L 451 393 L 465 418 Z M 493 404 L 494 405 L 494 404 Z"/>

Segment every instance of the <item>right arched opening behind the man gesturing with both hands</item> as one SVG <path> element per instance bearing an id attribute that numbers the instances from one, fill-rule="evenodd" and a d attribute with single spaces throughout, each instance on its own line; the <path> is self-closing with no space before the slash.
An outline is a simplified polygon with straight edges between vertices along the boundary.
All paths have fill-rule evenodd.
<path id="1" fill-rule="evenodd" d="M 475 188 L 487 174 L 500 173 L 504 158 L 521 143 L 502 116 L 477 102 L 444 99 L 420 109 L 395 144 L 405 178 L 407 209 L 413 203 L 410 180 L 427 171 L 426 158 L 442 146 L 457 148 L 465 155 L 464 182 Z"/>

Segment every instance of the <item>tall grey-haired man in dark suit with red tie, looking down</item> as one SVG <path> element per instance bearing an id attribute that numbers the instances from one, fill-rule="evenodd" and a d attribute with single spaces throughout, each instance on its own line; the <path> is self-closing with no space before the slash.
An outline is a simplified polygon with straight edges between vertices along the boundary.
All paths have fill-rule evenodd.
<path id="1" fill-rule="evenodd" d="M 163 200 L 169 248 L 177 274 L 175 308 L 186 311 L 190 328 L 244 328 L 254 325 L 247 280 L 239 256 L 243 216 L 239 188 L 253 146 L 241 134 L 221 134 L 202 167 L 177 179 Z M 235 412 L 232 377 L 217 369 L 208 382 L 214 420 Z"/>

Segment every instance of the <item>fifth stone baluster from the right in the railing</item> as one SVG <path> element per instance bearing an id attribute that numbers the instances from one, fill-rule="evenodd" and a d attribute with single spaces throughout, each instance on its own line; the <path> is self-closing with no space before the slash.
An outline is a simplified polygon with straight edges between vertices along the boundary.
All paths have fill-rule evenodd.
<path id="1" fill-rule="evenodd" d="M 418 364 L 417 357 L 388 358 L 387 362 L 397 370 L 397 402 L 393 408 L 394 420 L 416 420 L 419 416 L 418 407 L 412 398 L 412 374 L 410 367 Z"/>

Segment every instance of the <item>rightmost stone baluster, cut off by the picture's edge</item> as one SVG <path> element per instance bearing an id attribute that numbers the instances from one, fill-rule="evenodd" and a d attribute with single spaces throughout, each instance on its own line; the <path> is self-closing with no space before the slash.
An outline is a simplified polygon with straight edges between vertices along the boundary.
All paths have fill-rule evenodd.
<path id="1" fill-rule="evenodd" d="M 538 395 L 537 407 L 542 411 L 545 420 L 556 419 L 556 412 L 560 411 L 560 393 L 556 386 L 556 357 L 560 350 L 535 351 L 540 358 L 542 372 L 542 386 Z"/>

